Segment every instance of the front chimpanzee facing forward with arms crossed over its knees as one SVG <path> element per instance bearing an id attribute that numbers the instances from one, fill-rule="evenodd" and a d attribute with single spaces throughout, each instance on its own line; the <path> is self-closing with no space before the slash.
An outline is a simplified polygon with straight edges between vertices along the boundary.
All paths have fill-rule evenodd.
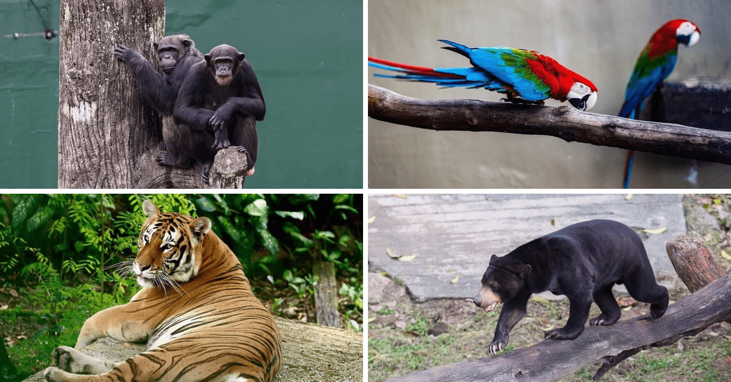
<path id="1" fill-rule="evenodd" d="M 181 128 L 188 127 L 181 129 L 178 143 L 202 162 L 205 183 L 216 151 L 230 145 L 246 153 L 246 175 L 254 175 L 259 151 L 254 119 L 263 121 L 264 114 L 264 96 L 254 69 L 235 47 L 214 47 L 205 62 L 190 69 L 178 92 L 174 116 Z"/>

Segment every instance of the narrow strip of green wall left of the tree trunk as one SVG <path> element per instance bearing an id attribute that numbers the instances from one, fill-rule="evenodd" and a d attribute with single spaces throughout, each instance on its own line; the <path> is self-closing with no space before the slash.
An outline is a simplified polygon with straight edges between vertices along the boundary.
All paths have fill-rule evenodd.
<path id="1" fill-rule="evenodd" d="M 58 30 L 58 0 L 35 1 Z M 0 188 L 56 188 L 58 38 L 6 37 L 43 30 L 30 1 L 0 1 Z"/>

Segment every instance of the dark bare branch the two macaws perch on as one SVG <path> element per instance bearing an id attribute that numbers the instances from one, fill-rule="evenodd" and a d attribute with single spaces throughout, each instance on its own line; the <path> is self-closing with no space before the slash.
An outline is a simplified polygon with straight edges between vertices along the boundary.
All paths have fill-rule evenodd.
<path id="1" fill-rule="evenodd" d="M 567 142 L 646 151 L 731 164 L 731 132 L 636 121 L 581 112 L 473 99 L 414 99 L 368 84 L 368 116 L 437 131 L 498 131 L 550 135 Z"/>

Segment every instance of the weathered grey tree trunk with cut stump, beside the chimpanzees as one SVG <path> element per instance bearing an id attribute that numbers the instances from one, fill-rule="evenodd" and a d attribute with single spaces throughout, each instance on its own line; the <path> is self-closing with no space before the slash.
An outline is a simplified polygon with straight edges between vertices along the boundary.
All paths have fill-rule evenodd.
<path id="1" fill-rule="evenodd" d="M 59 30 L 58 188 L 204 188 L 200 164 L 157 164 L 161 122 L 114 56 L 124 44 L 158 64 L 165 1 L 61 0 Z M 243 187 L 240 167 L 227 166 L 240 153 L 219 154 L 211 186 Z"/>

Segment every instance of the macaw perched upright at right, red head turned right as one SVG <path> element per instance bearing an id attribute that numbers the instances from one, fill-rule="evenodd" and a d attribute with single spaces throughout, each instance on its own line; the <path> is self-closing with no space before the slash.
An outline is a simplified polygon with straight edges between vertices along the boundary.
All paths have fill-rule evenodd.
<path id="1" fill-rule="evenodd" d="M 688 20 L 671 20 L 661 26 L 650 41 L 645 45 L 640 57 L 637 58 L 635 69 L 629 77 L 627 89 L 624 92 L 624 104 L 619 110 L 619 116 L 635 119 L 640 115 L 645 98 L 650 96 L 655 88 L 662 85 L 675 68 L 678 60 L 678 45 L 692 47 L 700 39 L 700 28 Z M 632 175 L 632 160 L 635 151 L 627 152 L 624 166 L 624 188 L 629 188 L 629 177 Z"/>

